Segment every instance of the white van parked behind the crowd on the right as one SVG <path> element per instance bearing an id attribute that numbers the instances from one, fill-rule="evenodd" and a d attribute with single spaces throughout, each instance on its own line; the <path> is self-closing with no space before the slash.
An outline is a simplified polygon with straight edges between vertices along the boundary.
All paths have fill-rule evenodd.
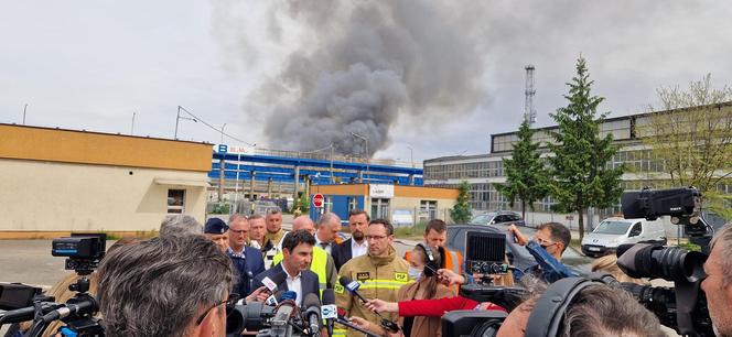
<path id="1" fill-rule="evenodd" d="M 582 252 L 599 257 L 623 243 L 658 242 L 666 244 L 664 221 L 656 219 L 607 218 L 582 239 Z"/>

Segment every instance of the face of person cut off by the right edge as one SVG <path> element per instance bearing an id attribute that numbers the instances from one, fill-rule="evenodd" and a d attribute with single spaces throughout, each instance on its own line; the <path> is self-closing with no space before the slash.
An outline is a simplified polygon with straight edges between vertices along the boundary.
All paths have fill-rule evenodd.
<path id="1" fill-rule="evenodd" d="M 711 241 L 711 253 L 704 262 L 707 279 L 701 289 L 717 336 L 732 336 L 732 222 L 728 222 Z"/>

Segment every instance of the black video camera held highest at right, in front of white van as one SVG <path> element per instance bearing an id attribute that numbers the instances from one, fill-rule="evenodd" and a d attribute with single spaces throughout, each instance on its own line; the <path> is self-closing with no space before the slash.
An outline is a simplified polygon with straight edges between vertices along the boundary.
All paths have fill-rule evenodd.
<path id="1" fill-rule="evenodd" d="M 670 216 L 671 224 L 683 226 L 689 241 L 701 247 L 709 254 L 709 241 L 713 228 L 701 216 L 701 193 L 695 187 L 625 192 L 621 196 L 623 216 L 627 219 L 646 218 L 655 220 Z"/>

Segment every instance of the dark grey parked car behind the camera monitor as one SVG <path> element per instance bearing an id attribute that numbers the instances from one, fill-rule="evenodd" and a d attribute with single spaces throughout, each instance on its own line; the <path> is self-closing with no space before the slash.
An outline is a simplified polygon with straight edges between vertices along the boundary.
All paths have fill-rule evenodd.
<path id="1" fill-rule="evenodd" d="M 504 233 L 506 235 L 506 256 L 509 264 L 520 270 L 536 264 L 536 260 L 528 250 L 510 240 L 503 228 L 474 224 L 450 225 L 448 226 L 448 242 L 445 242 L 445 246 L 451 250 L 460 251 L 465 257 L 465 233 L 469 231 Z"/>

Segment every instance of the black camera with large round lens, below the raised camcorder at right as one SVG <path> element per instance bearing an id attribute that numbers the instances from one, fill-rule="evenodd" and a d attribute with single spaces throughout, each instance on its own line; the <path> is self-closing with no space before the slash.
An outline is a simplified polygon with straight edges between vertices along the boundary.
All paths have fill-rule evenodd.
<path id="1" fill-rule="evenodd" d="M 618 247 L 617 257 L 617 265 L 631 278 L 674 282 L 674 287 L 623 283 L 623 287 L 663 325 L 685 336 L 714 336 L 707 296 L 700 289 L 706 278 L 703 263 L 707 254 L 679 247 L 636 243 Z"/>

